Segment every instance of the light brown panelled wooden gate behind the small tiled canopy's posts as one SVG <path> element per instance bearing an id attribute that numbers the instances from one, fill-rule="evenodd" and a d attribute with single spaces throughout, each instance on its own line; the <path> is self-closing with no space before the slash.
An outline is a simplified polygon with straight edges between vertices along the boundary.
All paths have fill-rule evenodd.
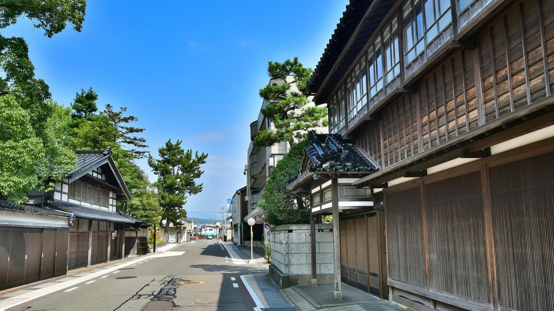
<path id="1" fill-rule="evenodd" d="M 376 214 L 340 221 L 342 282 L 384 297 L 381 289 L 381 224 Z"/>

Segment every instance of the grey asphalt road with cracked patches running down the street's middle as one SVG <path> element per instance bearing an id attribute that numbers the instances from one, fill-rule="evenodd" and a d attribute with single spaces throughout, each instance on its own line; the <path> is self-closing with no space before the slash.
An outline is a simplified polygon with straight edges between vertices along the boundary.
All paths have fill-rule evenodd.
<path id="1" fill-rule="evenodd" d="M 259 265 L 237 265 L 217 241 L 186 243 L 148 256 L 91 281 L 76 284 L 9 311 L 252 310 L 240 276 L 261 273 Z M 189 282 L 199 281 L 199 282 Z"/>

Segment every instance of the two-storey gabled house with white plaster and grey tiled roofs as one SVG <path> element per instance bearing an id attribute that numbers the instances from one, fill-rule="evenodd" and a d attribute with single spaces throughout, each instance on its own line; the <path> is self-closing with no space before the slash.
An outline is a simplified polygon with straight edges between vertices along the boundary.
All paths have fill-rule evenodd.
<path id="1" fill-rule="evenodd" d="M 69 269 L 124 257 L 126 226 L 136 222 L 117 212 L 117 201 L 128 201 L 131 194 L 111 151 L 75 154 L 77 168 L 55 183 L 47 201 L 47 207 L 76 217 L 69 228 Z"/>

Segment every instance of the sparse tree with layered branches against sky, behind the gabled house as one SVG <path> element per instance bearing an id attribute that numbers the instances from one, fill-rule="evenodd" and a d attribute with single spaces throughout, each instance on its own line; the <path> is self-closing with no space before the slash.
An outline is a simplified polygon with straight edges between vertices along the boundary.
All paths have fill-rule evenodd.
<path id="1" fill-rule="evenodd" d="M 110 120 L 111 125 L 117 130 L 117 143 L 133 154 L 136 159 L 141 159 L 148 153 L 144 150 L 144 148 L 148 148 L 146 139 L 133 136 L 132 134 L 142 133 L 144 129 L 130 126 L 129 123 L 139 121 L 139 118 L 135 116 L 124 116 L 125 112 L 127 112 L 126 107 L 120 107 L 119 111 L 114 111 L 114 107 L 107 104 L 106 109 L 102 111 L 102 115 L 106 116 Z"/>

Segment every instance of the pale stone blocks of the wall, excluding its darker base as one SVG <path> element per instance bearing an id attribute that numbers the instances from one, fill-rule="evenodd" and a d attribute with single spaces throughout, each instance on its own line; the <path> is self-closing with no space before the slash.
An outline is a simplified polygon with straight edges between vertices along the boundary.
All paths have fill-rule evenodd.
<path id="1" fill-rule="evenodd" d="M 316 268 L 318 274 L 333 273 L 331 224 L 316 225 Z M 289 232 L 292 230 L 292 232 Z M 324 230 L 324 232 L 317 232 Z M 288 275 L 311 274 L 310 225 L 282 225 L 271 229 L 271 264 Z"/>

